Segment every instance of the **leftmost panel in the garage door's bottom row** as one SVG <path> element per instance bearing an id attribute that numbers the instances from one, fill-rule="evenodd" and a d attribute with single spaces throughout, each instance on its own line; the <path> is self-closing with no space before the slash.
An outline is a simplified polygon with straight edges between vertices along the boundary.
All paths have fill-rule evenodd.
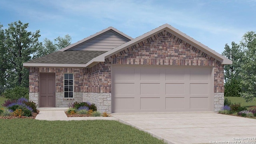
<path id="1" fill-rule="evenodd" d="M 134 110 L 135 108 L 134 98 L 115 98 L 114 103 L 115 110 Z"/>

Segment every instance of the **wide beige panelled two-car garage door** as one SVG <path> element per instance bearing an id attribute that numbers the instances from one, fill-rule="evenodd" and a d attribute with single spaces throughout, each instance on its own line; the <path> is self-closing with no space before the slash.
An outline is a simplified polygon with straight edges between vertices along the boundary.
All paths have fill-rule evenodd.
<path id="1" fill-rule="evenodd" d="M 112 66 L 112 112 L 213 111 L 212 67 Z"/>

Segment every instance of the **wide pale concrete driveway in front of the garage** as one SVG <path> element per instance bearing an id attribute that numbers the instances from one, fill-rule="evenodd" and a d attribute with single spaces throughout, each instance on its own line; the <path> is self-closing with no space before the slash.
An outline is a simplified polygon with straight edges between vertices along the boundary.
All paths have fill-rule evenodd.
<path id="1" fill-rule="evenodd" d="M 256 119 L 214 112 L 111 115 L 169 144 L 256 144 Z"/>

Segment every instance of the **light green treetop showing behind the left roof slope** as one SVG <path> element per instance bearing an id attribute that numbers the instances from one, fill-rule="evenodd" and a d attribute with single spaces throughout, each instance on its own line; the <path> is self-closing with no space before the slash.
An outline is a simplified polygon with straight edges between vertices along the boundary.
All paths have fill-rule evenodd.
<path id="1" fill-rule="evenodd" d="M 49 40 L 48 38 L 44 38 L 44 44 L 38 48 L 34 58 L 38 58 L 44 56 L 46 54 L 50 54 L 52 52 L 56 52 L 66 46 L 71 44 L 72 38 L 67 34 L 64 37 L 58 36 L 54 39 L 54 42 Z"/>

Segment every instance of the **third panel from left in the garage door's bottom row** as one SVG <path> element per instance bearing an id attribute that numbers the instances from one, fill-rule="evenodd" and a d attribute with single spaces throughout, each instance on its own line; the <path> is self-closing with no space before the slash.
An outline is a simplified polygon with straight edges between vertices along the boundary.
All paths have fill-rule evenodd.
<path id="1" fill-rule="evenodd" d="M 185 98 L 184 97 L 166 97 L 165 98 L 165 108 L 167 110 L 184 109 L 185 108 Z"/>

